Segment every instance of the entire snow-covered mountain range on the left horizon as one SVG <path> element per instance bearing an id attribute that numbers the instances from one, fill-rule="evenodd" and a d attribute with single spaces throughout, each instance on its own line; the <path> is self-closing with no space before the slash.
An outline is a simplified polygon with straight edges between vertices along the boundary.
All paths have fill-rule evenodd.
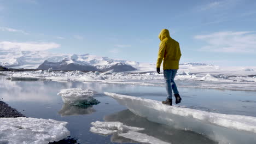
<path id="1" fill-rule="evenodd" d="M 95 55 L 55 54 L 45 51 L 1 50 L 0 65 L 7 68 L 31 68 L 54 70 L 131 71 L 138 62 L 124 61 Z"/>

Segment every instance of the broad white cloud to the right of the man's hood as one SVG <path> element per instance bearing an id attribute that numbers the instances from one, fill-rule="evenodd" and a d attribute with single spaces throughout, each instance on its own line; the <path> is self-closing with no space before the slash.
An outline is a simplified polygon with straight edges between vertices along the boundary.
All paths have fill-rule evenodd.
<path id="1" fill-rule="evenodd" d="M 201 51 L 211 52 L 256 52 L 256 33 L 245 32 L 217 32 L 207 35 L 195 35 L 195 39 L 203 40 L 207 43 Z"/>

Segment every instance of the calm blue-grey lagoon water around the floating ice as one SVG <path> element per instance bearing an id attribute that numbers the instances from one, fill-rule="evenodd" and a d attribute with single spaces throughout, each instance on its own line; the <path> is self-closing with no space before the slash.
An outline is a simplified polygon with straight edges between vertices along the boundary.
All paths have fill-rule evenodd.
<path id="1" fill-rule="evenodd" d="M 154 100 L 166 98 L 164 87 L 118 85 L 97 82 L 10 81 L 0 76 L 0 98 L 27 117 L 51 118 L 68 122 L 71 137 L 80 143 L 136 143 L 117 135 L 101 136 L 89 131 L 91 122 L 119 121 L 143 127 L 145 133 L 172 143 L 216 143 L 193 131 L 178 130 L 133 115 L 123 105 L 103 92 L 133 95 Z M 81 109 L 62 103 L 57 93 L 63 88 L 89 88 L 97 91 L 100 104 Z M 193 109 L 256 117 L 256 92 L 220 91 L 216 89 L 179 88 L 182 105 Z"/>

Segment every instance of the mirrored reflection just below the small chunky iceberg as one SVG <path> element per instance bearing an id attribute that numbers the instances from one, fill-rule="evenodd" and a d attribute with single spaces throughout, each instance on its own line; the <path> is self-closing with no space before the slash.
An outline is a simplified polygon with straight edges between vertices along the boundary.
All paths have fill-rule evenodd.
<path id="1" fill-rule="evenodd" d="M 78 107 L 75 105 L 63 104 L 62 109 L 58 112 L 61 116 L 87 115 L 96 112 L 92 105 L 87 107 Z"/>

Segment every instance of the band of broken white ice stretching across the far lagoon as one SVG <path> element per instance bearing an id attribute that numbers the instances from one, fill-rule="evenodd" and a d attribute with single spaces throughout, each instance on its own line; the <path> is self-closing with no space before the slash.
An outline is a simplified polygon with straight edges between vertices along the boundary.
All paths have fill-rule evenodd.
<path id="1" fill-rule="evenodd" d="M 146 67 L 146 66 L 145 66 Z M 153 65 L 148 65 L 149 70 Z M 247 70 L 250 69 L 250 70 Z M 218 67 L 215 65 L 183 64 L 175 77 L 179 87 L 191 88 L 214 88 L 230 89 L 238 91 L 256 91 L 256 67 Z M 80 81 L 121 83 L 130 85 L 164 86 L 164 75 L 155 71 L 132 71 L 132 73 L 115 73 L 113 70 L 104 73 L 82 71 L 25 71 L 11 72 L 2 71 L 0 74 L 7 75 L 13 81 Z"/>

